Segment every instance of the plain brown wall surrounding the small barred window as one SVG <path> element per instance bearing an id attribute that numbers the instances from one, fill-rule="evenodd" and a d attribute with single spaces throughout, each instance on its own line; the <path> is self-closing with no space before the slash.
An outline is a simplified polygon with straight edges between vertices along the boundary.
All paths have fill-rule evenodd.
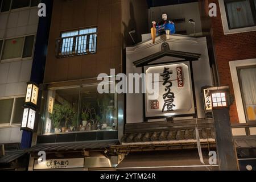
<path id="1" fill-rule="evenodd" d="M 121 71 L 121 0 L 78 0 L 53 2 L 51 30 L 44 82 L 76 80 Z M 97 26 L 97 53 L 57 59 L 56 39 L 60 32 Z"/>

